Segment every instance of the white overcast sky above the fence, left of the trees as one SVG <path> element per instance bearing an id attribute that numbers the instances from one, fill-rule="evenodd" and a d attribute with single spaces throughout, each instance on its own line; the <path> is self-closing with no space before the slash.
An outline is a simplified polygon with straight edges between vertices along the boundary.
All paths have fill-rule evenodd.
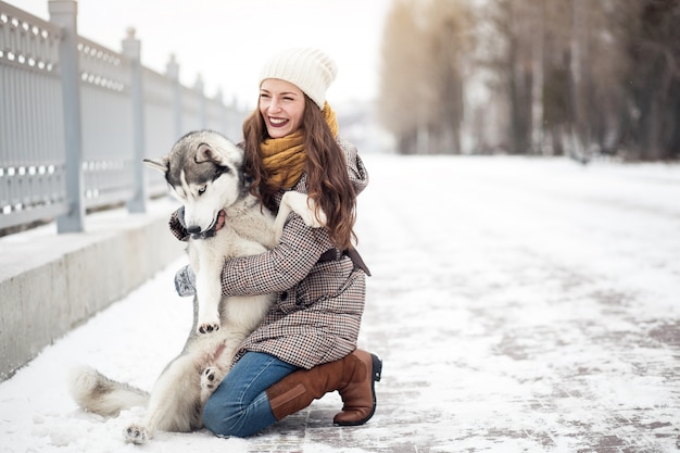
<path id="1" fill-rule="evenodd" d="M 5 0 L 7 1 L 7 0 Z M 169 54 L 180 79 L 225 100 L 253 106 L 261 64 L 275 51 L 315 46 L 340 72 L 328 91 L 332 102 L 376 96 L 379 49 L 391 0 L 79 0 L 79 34 L 119 51 L 130 26 L 141 40 L 142 63 L 161 73 Z M 48 0 L 9 0 L 49 18 Z"/>

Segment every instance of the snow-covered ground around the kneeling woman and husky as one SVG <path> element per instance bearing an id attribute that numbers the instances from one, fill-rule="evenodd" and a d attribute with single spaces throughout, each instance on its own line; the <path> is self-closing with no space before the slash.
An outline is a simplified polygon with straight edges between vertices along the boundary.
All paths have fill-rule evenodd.
<path id="1" fill-rule="evenodd" d="M 77 363 L 151 388 L 190 301 L 173 263 L 0 383 L 9 452 L 676 452 L 680 167 L 369 155 L 361 345 L 385 360 L 378 411 L 331 425 L 336 394 L 247 440 L 123 442 L 141 410 L 79 412 Z"/>

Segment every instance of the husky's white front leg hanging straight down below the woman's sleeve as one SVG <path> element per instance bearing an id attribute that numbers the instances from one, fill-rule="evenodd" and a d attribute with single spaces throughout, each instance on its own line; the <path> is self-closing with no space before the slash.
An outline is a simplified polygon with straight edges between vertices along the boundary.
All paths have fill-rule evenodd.
<path id="1" fill-rule="evenodd" d="M 198 251 L 199 261 L 199 270 L 196 275 L 196 295 L 199 302 L 196 331 L 199 335 L 219 329 L 224 257 L 212 246 L 212 240 L 209 239 L 199 239 L 193 243 Z"/>

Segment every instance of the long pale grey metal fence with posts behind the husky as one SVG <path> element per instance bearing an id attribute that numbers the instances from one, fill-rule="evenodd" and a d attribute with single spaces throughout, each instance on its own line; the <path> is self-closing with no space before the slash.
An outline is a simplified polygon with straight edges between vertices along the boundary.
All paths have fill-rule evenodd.
<path id="1" fill-rule="evenodd" d="M 200 78 L 182 86 L 173 56 L 160 74 L 141 65 L 134 30 L 116 52 L 78 36 L 76 1 L 49 12 L 0 1 L 0 230 L 56 218 L 60 232 L 81 231 L 87 210 L 121 202 L 143 212 L 166 192 L 143 158 L 199 128 L 239 139 L 244 113 Z"/>

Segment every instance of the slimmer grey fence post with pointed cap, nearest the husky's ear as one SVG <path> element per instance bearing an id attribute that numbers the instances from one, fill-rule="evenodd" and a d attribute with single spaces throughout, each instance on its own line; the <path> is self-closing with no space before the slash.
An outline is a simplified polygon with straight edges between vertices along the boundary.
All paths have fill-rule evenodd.
<path id="1" fill-rule="evenodd" d="M 123 54 L 130 62 L 130 91 L 133 106 L 133 135 L 135 146 L 135 194 L 127 202 L 130 213 L 147 212 L 147 173 L 142 159 L 144 149 L 144 99 L 141 74 L 141 42 L 135 38 L 135 28 L 127 29 L 127 37 L 123 40 Z"/>

